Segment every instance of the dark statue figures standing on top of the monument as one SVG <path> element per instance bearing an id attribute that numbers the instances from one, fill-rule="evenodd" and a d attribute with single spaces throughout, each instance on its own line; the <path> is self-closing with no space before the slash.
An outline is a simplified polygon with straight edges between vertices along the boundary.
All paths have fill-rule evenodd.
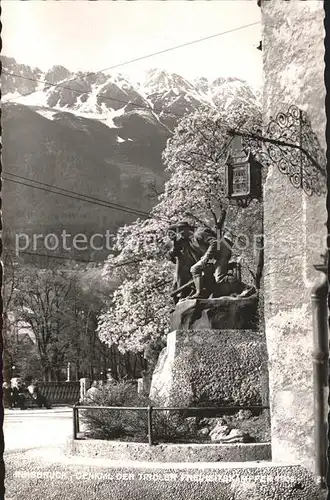
<path id="1" fill-rule="evenodd" d="M 230 235 L 225 233 L 220 237 L 209 228 L 194 228 L 188 222 L 179 222 L 169 227 L 169 237 L 173 242 L 169 257 L 176 264 L 175 301 L 215 292 L 230 268 L 233 247 Z M 195 287 L 193 295 L 189 294 L 191 284 Z"/>

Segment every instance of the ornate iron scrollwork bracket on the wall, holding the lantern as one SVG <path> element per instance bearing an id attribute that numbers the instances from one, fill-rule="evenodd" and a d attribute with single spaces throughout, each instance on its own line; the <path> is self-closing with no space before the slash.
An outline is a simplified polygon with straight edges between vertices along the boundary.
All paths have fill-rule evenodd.
<path id="1" fill-rule="evenodd" d="M 231 133 L 243 137 L 243 146 L 250 148 L 260 163 L 277 165 L 295 188 L 309 196 L 326 193 L 325 154 L 308 115 L 297 106 L 278 113 L 264 133 L 260 129 Z"/>

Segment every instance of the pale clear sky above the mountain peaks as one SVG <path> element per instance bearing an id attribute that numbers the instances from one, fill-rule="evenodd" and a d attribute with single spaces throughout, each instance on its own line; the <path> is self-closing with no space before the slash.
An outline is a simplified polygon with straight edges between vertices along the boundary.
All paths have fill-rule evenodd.
<path id="1" fill-rule="evenodd" d="M 98 71 L 153 52 L 260 23 L 256 0 L 2 1 L 3 55 L 42 70 Z M 161 68 L 193 79 L 262 82 L 261 25 L 239 29 L 114 71 L 139 81 Z"/>

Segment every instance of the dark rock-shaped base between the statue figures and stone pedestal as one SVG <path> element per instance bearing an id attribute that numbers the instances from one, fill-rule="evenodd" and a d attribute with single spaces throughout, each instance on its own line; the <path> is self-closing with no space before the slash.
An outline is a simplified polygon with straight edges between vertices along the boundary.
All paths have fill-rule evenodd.
<path id="1" fill-rule="evenodd" d="M 176 305 L 172 329 L 254 330 L 258 327 L 258 299 L 251 297 L 220 297 L 184 300 Z"/>

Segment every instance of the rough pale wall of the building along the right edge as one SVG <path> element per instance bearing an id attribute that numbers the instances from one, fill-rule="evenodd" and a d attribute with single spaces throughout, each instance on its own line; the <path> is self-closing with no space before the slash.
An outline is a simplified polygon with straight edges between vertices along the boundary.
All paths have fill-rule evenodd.
<path id="1" fill-rule="evenodd" d="M 267 124 L 296 105 L 325 148 L 323 2 L 262 1 Z M 273 460 L 314 469 L 311 290 L 325 250 L 325 196 L 294 188 L 277 165 L 264 189 L 265 327 Z"/>

